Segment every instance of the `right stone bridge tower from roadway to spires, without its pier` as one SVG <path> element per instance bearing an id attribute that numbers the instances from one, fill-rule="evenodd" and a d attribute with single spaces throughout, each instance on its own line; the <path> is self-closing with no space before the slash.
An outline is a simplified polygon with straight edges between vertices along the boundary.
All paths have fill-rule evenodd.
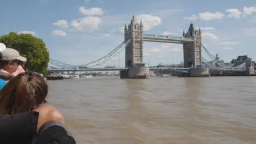
<path id="1" fill-rule="evenodd" d="M 200 68 L 202 67 L 202 50 L 201 29 L 196 30 L 191 22 L 188 32 L 183 31 L 184 38 L 193 38 L 193 42 L 183 44 L 184 68 Z"/>

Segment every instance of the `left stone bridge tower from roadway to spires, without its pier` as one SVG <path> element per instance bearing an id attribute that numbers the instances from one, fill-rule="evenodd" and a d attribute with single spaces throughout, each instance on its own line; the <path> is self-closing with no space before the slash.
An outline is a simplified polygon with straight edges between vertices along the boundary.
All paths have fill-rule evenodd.
<path id="1" fill-rule="evenodd" d="M 139 67 L 143 63 L 143 24 L 138 24 L 135 16 L 132 15 L 131 23 L 125 24 L 124 28 L 125 41 L 131 39 L 131 42 L 125 47 L 125 66 Z"/>

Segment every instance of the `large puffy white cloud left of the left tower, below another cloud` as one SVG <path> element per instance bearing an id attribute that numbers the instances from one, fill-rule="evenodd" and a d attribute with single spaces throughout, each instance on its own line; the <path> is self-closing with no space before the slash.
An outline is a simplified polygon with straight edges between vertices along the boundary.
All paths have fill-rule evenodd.
<path id="1" fill-rule="evenodd" d="M 72 20 L 70 25 L 74 27 L 74 31 L 94 32 L 98 29 L 100 23 L 101 19 L 99 17 L 89 16 L 82 17 L 78 20 Z"/>

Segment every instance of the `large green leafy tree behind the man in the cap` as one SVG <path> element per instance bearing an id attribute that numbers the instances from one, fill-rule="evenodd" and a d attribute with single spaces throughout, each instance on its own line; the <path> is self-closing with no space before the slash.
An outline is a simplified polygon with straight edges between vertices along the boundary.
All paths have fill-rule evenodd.
<path id="1" fill-rule="evenodd" d="M 20 52 L 27 58 L 26 68 L 37 73 L 46 74 L 50 55 L 42 39 L 34 37 L 32 34 L 17 34 L 10 32 L 8 35 L 0 37 L 0 43 L 5 44 Z"/>

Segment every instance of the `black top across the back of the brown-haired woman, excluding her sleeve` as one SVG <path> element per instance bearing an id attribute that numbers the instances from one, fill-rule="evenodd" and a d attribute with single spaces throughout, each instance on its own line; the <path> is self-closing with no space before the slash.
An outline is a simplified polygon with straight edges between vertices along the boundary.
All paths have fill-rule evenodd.
<path id="1" fill-rule="evenodd" d="M 38 116 L 34 111 L 0 116 L 0 143 L 31 143 L 37 133 Z"/>

